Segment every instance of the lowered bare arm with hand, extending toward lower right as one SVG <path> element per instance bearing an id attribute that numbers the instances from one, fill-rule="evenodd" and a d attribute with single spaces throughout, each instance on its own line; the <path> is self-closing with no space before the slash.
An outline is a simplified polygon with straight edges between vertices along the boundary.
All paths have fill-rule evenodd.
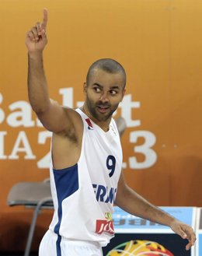
<path id="1" fill-rule="evenodd" d="M 138 195 L 138 193 L 127 186 L 124 181 L 123 173 L 120 175 L 116 204 L 121 209 L 124 209 L 124 211 L 129 212 L 134 216 L 169 226 L 175 233 L 179 234 L 180 237 L 189 240 L 189 243 L 186 245 L 186 250 L 189 250 L 195 243 L 196 235 L 190 226 L 181 223 L 168 213 L 163 212 L 162 209 L 152 205 L 150 202 L 145 200 L 145 198 L 142 198 L 141 195 Z"/>

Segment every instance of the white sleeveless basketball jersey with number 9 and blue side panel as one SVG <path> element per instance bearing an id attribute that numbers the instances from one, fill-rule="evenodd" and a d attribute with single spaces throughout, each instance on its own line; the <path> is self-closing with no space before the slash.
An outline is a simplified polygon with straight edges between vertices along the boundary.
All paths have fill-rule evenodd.
<path id="1" fill-rule="evenodd" d="M 106 246 L 114 233 L 113 202 L 123 158 L 120 136 L 113 119 L 104 132 L 82 110 L 76 111 L 84 124 L 82 151 L 72 167 L 54 170 L 51 166 L 55 210 L 50 230 L 57 233 L 58 246 L 61 237 Z"/>

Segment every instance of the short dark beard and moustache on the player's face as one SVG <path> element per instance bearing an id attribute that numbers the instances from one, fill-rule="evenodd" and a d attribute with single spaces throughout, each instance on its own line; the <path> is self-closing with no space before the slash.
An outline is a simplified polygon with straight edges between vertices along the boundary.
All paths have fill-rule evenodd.
<path id="1" fill-rule="evenodd" d="M 88 95 L 86 96 L 86 104 L 89 109 L 89 113 L 98 121 L 106 121 L 111 118 L 113 112 L 117 110 L 117 107 L 119 106 L 119 103 L 113 107 L 110 105 L 110 103 L 102 103 L 101 101 L 93 103 L 92 100 L 89 99 Z M 99 107 L 107 107 L 106 113 L 99 112 Z"/>

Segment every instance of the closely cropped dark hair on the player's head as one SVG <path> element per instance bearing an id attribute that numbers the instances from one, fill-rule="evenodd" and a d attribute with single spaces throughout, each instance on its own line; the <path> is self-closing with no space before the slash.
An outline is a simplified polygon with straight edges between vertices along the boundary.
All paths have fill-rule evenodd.
<path id="1" fill-rule="evenodd" d="M 124 87 L 126 86 L 126 72 L 122 65 L 120 65 L 119 62 L 113 60 L 112 58 L 101 58 L 98 61 L 95 61 L 92 63 L 92 65 L 89 67 L 89 71 L 86 76 L 86 82 L 87 86 L 89 84 L 90 76 L 92 75 L 92 72 L 94 69 L 102 69 L 105 72 L 108 73 L 122 73 L 123 74 L 123 80 L 124 80 Z"/>

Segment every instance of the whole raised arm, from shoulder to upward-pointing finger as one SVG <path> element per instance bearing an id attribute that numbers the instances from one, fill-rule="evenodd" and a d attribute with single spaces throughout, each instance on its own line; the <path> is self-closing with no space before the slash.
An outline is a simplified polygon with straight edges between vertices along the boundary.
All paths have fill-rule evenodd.
<path id="1" fill-rule="evenodd" d="M 80 117 L 75 110 L 61 107 L 49 98 L 43 63 L 43 51 L 47 45 L 46 32 L 47 9 L 44 9 L 43 22 L 36 23 L 26 34 L 29 100 L 45 128 L 56 133 L 71 133 L 75 130 L 75 124 L 81 124 Z"/>

